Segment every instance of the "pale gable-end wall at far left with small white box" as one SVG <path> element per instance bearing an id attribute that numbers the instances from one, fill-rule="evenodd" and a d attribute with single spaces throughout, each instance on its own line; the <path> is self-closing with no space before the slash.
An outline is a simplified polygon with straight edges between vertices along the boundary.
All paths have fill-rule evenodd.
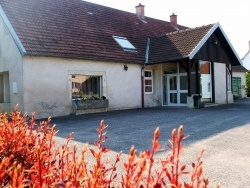
<path id="1" fill-rule="evenodd" d="M 22 56 L 0 17 L 0 112 L 10 112 L 18 104 L 23 110 Z"/>

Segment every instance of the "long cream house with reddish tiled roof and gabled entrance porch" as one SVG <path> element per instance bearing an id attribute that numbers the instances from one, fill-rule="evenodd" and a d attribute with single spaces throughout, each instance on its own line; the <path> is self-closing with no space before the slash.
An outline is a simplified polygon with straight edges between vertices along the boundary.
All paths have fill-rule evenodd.
<path id="1" fill-rule="evenodd" d="M 39 118 L 64 116 L 77 99 L 102 96 L 107 110 L 192 108 L 198 94 L 232 103 L 232 66 L 241 60 L 220 24 L 188 28 L 175 14 L 168 22 L 144 9 L 0 0 L 1 111 L 19 104 Z"/>

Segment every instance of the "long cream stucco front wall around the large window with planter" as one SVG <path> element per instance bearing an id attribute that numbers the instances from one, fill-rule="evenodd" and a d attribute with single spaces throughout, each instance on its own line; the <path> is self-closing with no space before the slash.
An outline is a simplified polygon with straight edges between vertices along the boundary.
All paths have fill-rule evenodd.
<path id="1" fill-rule="evenodd" d="M 24 58 L 25 111 L 39 118 L 69 115 L 72 75 L 102 76 L 108 110 L 141 107 L 141 66 L 66 58 Z"/>

